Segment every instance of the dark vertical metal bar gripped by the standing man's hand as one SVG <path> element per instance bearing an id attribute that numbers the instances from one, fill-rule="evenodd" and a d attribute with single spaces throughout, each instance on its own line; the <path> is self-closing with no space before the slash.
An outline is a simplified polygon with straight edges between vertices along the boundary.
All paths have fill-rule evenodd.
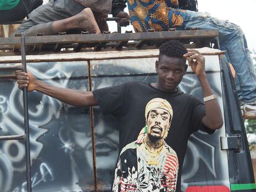
<path id="1" fill-rule="evenodd" d="M 20 41 L 21 41 L 20 48 L 21 48 L 23 72 L 27 73 L 26 52 L 25 52 L 25 36 L 22 36 L 20 38 Z M 32 192 L 27 88 L 23 89 L 23 108 L 24 108 L 23 113 L 24 113 L 25 135 L 27 136 L 26 141 L 25 141 L 27 191 Z"/>

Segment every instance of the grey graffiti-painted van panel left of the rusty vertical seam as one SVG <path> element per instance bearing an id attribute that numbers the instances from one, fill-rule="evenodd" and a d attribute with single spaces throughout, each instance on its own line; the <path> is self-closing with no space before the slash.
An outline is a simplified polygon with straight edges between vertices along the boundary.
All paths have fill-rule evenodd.
<path id="1" fill-rule="evenodd" d="M 51 85 L 88 90 L 87 62 L 28 64 L 28 70 Z M 0 84 L 1 135 L 22 134 L 22 91 L 14 80 Z M 28 94 L 28 103 L 33 191 L 82 191 L 84 178 L 93 178 L 88 169 L 92 149 L 85 154 L 81 143 L 90 135 L 90 120 L 83 118 L 88 109 L 74 109 L 37 92 Z M 2 141 L 0 150 L 0 191 L 27 191 L 24 142 Z"/>

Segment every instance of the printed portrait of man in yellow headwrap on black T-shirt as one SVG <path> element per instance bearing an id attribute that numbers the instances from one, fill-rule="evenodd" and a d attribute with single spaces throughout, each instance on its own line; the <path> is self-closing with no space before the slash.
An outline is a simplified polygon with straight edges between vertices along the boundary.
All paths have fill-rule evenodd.
<path id="1" fill-rule="evenodd" d="M 176 152 L 164 141 L 172 118 L 173 109 L 165 99 L 154 98 L 147 103 L 145 127 L 119 155 L 113 191 L 176 191 L 179 162 Z"/>

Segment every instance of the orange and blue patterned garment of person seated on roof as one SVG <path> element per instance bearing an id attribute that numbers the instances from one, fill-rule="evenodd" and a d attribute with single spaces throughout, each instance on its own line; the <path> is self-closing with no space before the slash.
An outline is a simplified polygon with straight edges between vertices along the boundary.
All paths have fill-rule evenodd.
<path id="1" fill-rule="evenodd" d="M 137 32 L 182 26 L 186 10 L 178 6 L 177 0 L 128 0 L 130 20 Z"/>

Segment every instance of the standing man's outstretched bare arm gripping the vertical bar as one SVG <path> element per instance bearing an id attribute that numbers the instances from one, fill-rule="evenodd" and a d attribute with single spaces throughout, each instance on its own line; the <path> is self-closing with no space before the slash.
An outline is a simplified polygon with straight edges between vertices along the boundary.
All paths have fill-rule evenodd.
<path id="1" fill-rule="evenodd" d="M 15 73 L 20 89 L 27 88 L 28 91 L 39 91 L 72 106 L 98 106 L 98 101 L 93 96 L 92 91 L 59 88 L 38 80 L 30 72 L 16 71 Z"/>

